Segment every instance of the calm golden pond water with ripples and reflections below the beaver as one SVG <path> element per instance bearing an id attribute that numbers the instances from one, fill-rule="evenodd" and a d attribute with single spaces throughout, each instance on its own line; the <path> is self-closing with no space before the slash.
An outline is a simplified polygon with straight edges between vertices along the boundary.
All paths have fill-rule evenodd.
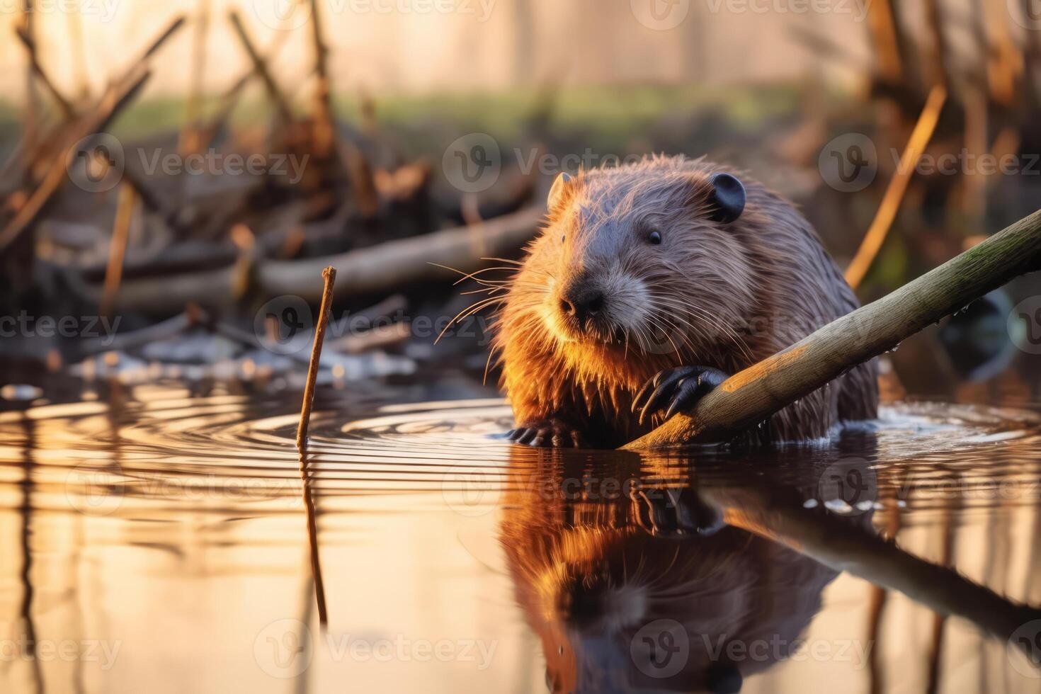
<path id="1" fill-rule="evenodd" d="M 326 389 L 305 487 L 294 392 L 51 397 L 0 412 L 0 691 L 1041 692 L 1030 411 L 561 454 Z"/>

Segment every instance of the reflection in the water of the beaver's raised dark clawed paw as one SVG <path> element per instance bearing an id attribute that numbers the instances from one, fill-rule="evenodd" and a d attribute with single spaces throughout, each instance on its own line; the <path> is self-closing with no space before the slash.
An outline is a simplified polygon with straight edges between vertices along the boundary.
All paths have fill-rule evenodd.
<path id="1" fill-rule="evenodd" d="M 727 525 L 719 510 L 702 502 L 690 488 L 631 489 L 629 497 L 636 524 L 654 537 L 707 537 Z"/>

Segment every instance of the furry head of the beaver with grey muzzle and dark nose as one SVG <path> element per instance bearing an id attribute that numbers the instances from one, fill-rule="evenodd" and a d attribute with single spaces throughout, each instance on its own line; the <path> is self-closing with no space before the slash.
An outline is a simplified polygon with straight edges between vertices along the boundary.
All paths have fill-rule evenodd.
<path id="1" fill-rule="evenodd" d="M 754 302 L 739 237 L 745 189 L 713 169 L 657 157 L 557 178 L 515 288 L 557 351 L 598 362 L 740 350 L 728 324 Z"/>

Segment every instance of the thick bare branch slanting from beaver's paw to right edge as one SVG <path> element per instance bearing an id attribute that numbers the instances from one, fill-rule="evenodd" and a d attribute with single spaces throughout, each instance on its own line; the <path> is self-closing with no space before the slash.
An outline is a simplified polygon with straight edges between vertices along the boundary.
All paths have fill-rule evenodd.
<path id="1" fill-rule="evenodd" d="M 628 443 L 640 449 L 727 441 L 1013 278 L 1041 269 L 1041 210 L 732 376 L 689 412 Z"/>

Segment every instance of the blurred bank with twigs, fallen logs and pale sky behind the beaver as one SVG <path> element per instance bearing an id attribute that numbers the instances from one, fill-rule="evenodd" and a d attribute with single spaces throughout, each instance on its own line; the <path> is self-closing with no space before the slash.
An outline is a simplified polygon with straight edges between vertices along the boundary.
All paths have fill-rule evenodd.
<path id="1" fill-rule="evenodd" d="M 332 264 L 324 378 L 483 371 L 489 311 L 433 344 L 471 305 L 448 267 L 518 257 L 560 172 L 649 153 L 788 196 L 878 298 L 1041 200 L 1036 5 L 6 0 L 0 352 L 130 380 L 291 372 Z M 1036 396 L 993 379 L 1036 377 L 1037 293 L 977 302 L 896 372 Z"/>

